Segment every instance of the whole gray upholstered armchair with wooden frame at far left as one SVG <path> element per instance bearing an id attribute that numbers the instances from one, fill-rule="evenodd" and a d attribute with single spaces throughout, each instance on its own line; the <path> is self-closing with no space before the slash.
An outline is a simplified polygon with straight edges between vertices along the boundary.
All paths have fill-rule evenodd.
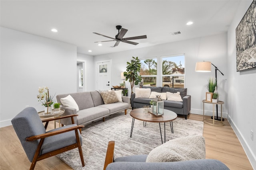
<path id="1" fill-rule="evenodd" d="M 66 152 L 67 150 L 78 148 L 82 166 L 84 157 L 82 153 L 82 137 L 78 131 L 82 125 L 74 124 L 74 116 L 56 117 L 41 120 L 36 109 L 27 107 L 12 119 L 14 130 L 20 139 L 23 149 L 30 162 L 30 170 L 33 170 L 36 161 Z M 71 125 L 60 127 L 46 132 L 49 121 L 70 117 Z M 43 122 L 46 122 L 45 126 Z"/>

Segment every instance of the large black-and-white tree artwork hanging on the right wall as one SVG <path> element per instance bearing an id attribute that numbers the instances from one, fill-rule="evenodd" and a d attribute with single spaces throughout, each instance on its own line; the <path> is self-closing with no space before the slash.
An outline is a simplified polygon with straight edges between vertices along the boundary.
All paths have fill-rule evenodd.
<path id="1" fill-rule="evenodd" d="M 236 27 L 236 71 L 256 68 L 256 0 Z"/>

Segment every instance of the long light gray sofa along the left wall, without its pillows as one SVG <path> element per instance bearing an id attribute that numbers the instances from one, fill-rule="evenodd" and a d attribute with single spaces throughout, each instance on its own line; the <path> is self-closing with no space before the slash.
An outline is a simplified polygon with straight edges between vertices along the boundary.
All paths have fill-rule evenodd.
<path id="1" fill-rule="evenodd" d="M 79 111 L 76 111 L 73 107 L 62 106 L 60 99 L 68 95 L 74 98 L 79 107 Z M 126 114 L 126 110 L 130 107 L 130 98 L 126 96 L 122 96 L 123 102 L 104 104 L 102 96 L 97 91 L 59 94 L 56 96 L 56 99 L 57 102 L 61 104 L 60 108 L 65 109 L 65 113 L 62 116 L 78 114 L 78 116 L 74 117 L 76 125 L 85 125 L 101 118 L 103 118 L 104 121 L 106 116 L 123 110 L 125 110 Z M 63 119 L 60 123 L 62 125 L 72 124 L 70 119 Z"/>

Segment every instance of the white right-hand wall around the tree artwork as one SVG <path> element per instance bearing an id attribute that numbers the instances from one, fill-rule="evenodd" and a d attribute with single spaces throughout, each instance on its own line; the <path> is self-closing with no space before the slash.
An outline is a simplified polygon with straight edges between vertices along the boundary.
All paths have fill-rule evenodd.
<path id="1" fill-rule="evenodd" d="M 228 30 L 228 119 L 256 169 L 256 69 L 236 72 L 236 27 L 252 0 L 241 2 Z M 253 131 L 254 139 L 250 138 Z"/>

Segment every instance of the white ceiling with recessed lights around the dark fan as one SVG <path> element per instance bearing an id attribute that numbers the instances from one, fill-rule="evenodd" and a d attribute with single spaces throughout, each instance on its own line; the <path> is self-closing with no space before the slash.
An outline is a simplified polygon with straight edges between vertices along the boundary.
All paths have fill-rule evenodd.
<path id="1" fill-rule="evenodd" d="M 1 26 L 74 44 L 78 53 L 100 55 L 227 32 L 241 0 L 1 0 Z M 186 25 L 188 21 L 194 22 Z M 147 35 L 120 43 L 116 25 L 125 37 Z M 58 29 L 57 33 L 51 31 Z M 179 35 L 171 32 L 180 31 Z M 92 52 L 88 52 L 92 50 Z"/>

